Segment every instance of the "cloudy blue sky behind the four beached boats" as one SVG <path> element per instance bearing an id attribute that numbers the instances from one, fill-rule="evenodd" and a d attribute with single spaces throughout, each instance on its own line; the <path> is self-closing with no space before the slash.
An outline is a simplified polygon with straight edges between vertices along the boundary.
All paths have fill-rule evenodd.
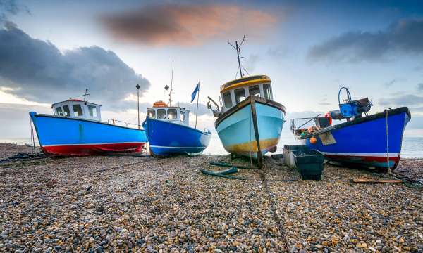
<path id="1" fill-rule="evenodd" d="M 405 136 L 423 137 L 421 1 L 20 1 L 0 0 L 0 139 L 29 136 L 30 111 L 80 98 L 102 104 L 103 121 L 137 122 L 167 100 L 214 129 L 207 96 L 238 73 L 271 77 L 287 117 L 338 108 L 338 90 L 372 98 L 371 112 L 407 106 Z M 238 73 L 239 77 L 239 73 Z M 191 115 L 190 120 L 195 120 Z M 284 132 L 289 132 L 288 121 Z"/>

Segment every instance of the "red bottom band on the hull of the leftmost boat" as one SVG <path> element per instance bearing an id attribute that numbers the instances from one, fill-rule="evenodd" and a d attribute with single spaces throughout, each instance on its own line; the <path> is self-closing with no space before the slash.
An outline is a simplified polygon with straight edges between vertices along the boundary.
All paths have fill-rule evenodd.
<path id="1" fill-rule="evenodd" d="M 42 150 L 47 155 L 78 156 L 99 155 L 113 152 L 140 152 L 145 143 L 106 143 L 86 145 L 49 145 L 43 146 Z"/>

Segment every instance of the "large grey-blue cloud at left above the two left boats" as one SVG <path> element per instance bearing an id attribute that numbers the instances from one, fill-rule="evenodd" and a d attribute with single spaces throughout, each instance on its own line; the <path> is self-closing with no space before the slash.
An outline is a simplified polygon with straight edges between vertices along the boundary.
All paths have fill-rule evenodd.
<path id="1" fill-rule="evenodd" d="M 98 46 L 61 52 L 49 41 L 32 39 L 10 22 L 0 29 L 0 86 L 6 93 L 39 103 L 79 97 L 90 89 L 93 102 L 125 108 L 123 99 L 149 81 L 128 67 L 113 51 Z"/>

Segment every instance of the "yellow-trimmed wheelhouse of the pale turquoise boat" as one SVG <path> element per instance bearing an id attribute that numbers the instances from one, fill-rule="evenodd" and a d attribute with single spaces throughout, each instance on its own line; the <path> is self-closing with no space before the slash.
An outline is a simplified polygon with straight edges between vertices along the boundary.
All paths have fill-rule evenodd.
<path id="1" fill-rule="evenodd" d="M 221 86 L 223 112 L 245 100 L 249 96 L 259 96 L 273 100 L 271 79 L 266 75 L 243 77 L 227 82 Z"/>

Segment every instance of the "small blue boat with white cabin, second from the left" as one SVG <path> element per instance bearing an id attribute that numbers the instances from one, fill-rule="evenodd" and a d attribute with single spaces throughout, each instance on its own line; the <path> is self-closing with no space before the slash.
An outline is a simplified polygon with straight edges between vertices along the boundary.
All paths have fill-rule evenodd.
<path id="1" fill-rule="evenodd" d="M 142 123 L 147 133 L 150 154 L 168 156 L 202 153 L 209 145 L 212 133 L 190 127 L 189 110 L 164 105 L 147 108 L 147 119 Z"/>

